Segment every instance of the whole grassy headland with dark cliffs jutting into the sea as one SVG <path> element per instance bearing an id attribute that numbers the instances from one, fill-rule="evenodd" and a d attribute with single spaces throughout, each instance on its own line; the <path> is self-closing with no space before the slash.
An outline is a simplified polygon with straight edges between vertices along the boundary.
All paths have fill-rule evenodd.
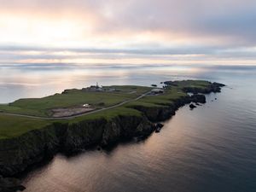
<path id="1" fill-rule="evenodd" d="M 178 108 L 205 103 L 204 94 L 223 86 L 204 80 L 166 81 L 162 87 L 96 84 L 1 104 L 0 191 L 25 189 L 15 177 L 56 153 L 104 148 L 159 132 L 160 122 Z"/>

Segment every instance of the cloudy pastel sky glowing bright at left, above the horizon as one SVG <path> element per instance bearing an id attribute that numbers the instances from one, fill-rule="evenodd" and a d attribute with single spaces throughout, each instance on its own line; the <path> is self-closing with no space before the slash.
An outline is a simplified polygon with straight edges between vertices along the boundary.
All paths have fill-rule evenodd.
<path id="1" fill-rule="evenodd" d="M 255 0 L 0 0 L 0 64 L 256 65 Z"/>

